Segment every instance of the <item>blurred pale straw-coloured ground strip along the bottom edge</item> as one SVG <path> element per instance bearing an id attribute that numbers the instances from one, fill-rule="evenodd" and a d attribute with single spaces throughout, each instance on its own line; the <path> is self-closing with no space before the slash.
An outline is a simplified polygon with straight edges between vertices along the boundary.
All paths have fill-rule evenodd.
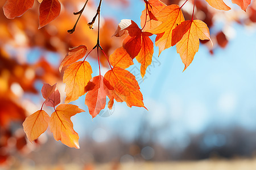
<path id="1" fill-rule="evenodd" d="M 0 168 L 1 169 L 1 168 Z M 44 170 L 44 169 L 54 169 L 54 170 L 246 170 L 246 169 L 256 169 L 256 158 L 254 159 L 206 159 L 199 161 L 184 161 L 184 162 L 139 162 L 139 163 L 108 163 L 108 164 L 86 164 L 84 166 L 78 164 L 62 164 L 57 166 L 42 165 L 42 166 L 29 166 L 23 165 L 22 167 L 16 167 L 12 169 L 26 169 L 26 170 Z"/>

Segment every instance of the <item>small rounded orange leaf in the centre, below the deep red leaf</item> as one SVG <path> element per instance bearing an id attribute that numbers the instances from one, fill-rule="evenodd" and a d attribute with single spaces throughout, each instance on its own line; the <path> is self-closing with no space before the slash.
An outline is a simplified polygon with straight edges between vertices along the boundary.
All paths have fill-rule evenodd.
<path id="1" fill-rule="evenodd" d="M 109 56 L 109 61 L 112 66 L 121 67 L 122 69 L 133 65 L 133 59 L 123 47 L 115 49 L 114 53 Z"/>

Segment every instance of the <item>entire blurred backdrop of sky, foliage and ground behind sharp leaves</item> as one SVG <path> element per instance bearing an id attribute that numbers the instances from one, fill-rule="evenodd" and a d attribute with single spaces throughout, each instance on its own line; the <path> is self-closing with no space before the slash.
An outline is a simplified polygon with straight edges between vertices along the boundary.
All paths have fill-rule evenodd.
<path id="1" fill-rule="evenodd" d="M 69 47 L 90 49 L 97 41 L 87 23 L 98 1 L 89 1 L 73 35 L 67 33 L 76 21 L 72 13 L 84 1 L 60 2 L 60 16 L 39 30 L 38 2 L 14 20 L 0 11 L 0 169 L 256 169 L 255 1 L 246 12 L 231 1 L 225 1 L 231 11 L 196 2 L 195 16 L 208 24 L 213 46 L 201 41 L 184 72 L 175 47 L 159 57 L 154 48 L 144 79 L 138 62 L 129 67 L 148 111 L 114 103 L 111 111 L 104 109 L 92 120 L 81 96 L 72 102 L 85 110 L 72 117 L 79 150 L 55 141 L 49 129 L 28 142 L 22 122 L 41 107 L 43 83 L 57 83 L 64 103 L 61 60 Z M 192 4 L 183 7 L 186 19 L 191 19 Z M 132 19 L 139 25 L 143 9 L 143 1 L 103 2 L 101 45 L 108 56 L 122 45 L 122 39 L 111 37 L 117 24 Z M 88 61 L 98 75 L 95 57 L 92 53 Z M 104 58 L 102 72 L 109 69 Z"/>

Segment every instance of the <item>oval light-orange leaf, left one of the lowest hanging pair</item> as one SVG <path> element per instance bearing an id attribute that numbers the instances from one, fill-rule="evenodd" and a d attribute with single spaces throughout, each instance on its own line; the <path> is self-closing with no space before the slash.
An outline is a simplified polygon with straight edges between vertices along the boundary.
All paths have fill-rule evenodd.
<path id="1" fill-rule="evenodd" d="M 23 129 L 31 143 L 47 130 L 49 120 L 49 115 L 43 110 L 36 111 L 26 118 Z"/>

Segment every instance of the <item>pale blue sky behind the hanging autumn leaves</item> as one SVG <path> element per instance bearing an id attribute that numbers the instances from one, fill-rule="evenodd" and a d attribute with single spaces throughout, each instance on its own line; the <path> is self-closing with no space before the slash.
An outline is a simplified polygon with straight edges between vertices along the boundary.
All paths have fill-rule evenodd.
<path id="1" fill-rule="evenodd" d="M 135 0 L 131 4 L 136 4 L 133 10 L 104 4 L 102 15 L 115 16 L 117 22 L 133 19 L 139 25 L 144 5 Z M 201 45 L 184 72 L 175 47 L 164 50 L 159 58 L 158 48 L 154 48 L 154 66 L 147 71 L 143 82 L 138 62 L 128 69 L 136 73 L 148 111 L 115 103 L 110 116 L 105 109 L 100 113 L 102 116 L 92 121 L 82 96 L 75 103 L 86 113 L 72 117 L 75 130 L 81 137 L 91 135 L 96 142 L 103 142 L 112 135 L 131 141 L 146 121 L 157 131 L 156 142 L 168 146 L 173 141 L 180 147 L 188 145 L 189 134 L 199 134 L 212 125 L 256 130 L 256 32 L 249 33 L 238 24 L 233 28 L 236 37 L 225 49 L 217 49 L 211 56 Z M 97 62 L 93 63 L 92 67 L 98 67 Z M 150 140 L 147 134 L 145 140 Z"/>

